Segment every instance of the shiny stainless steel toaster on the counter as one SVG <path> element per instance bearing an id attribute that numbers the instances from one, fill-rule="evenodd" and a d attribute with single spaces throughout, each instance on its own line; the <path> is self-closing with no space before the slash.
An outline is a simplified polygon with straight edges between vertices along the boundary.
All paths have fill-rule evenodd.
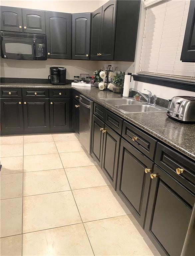
<path id="1" fill-rule="evenodd" d="M 195 97 L 175 96 L 168 101 L 168 117 L 182 123 L 195 123 Z"/>

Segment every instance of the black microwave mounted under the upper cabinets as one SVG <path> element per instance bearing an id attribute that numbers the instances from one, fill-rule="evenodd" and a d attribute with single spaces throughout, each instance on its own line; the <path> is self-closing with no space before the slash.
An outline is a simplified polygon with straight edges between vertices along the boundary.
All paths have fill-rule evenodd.
<path id="1" fill-rule="evenodd" d="M 47 60 L 46 35 L 1 31 L 1 57 L 14 60 Z"/>

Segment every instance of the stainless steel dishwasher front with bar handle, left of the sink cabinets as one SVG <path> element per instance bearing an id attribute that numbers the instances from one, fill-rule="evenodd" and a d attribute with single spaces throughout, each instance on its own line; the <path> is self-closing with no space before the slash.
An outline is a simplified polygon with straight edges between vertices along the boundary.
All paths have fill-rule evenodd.
<path id="1" fill-rule="evenodd" d="M 92 115 L 94 102 L 84 95 L 80 95 L 80 135 L 79 141 L 90 153 L 90 140 L 92 132 Z"/>

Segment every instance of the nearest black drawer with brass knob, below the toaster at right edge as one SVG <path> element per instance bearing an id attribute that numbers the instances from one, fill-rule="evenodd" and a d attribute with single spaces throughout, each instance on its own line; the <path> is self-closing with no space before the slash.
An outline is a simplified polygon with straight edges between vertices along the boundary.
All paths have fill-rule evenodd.
<path id="1" fill-rule="evenodd" d="M 183 185 L 195 192 L 195 163 L 187 159 L 180 153 L 164 146 L 157 144 L 155 163 L 171 174 Z M 180 169 L 177 169 L 180 168 Z M 183 171 L 177 174 L 178 171 Z M 183 169 L 183 170 L 182 170 Z"/>

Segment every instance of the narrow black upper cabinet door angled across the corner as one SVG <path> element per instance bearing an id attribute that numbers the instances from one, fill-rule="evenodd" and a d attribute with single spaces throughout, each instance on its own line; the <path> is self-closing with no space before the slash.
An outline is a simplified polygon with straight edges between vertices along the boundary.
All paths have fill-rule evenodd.
<path id="1" fill-rule="evenodd" d="M 72 59 L 90 59 L 91 13 L 72 14 Z"/>

